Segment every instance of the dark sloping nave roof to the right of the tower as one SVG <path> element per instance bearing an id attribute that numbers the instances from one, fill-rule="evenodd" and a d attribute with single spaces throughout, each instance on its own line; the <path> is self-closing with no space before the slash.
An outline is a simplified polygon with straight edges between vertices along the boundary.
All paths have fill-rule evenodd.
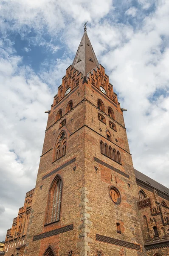
<path id="1" fill-rule="evenodd" d="M 169 189 L 162 184 L 158 183 L 157 181 L 151 179 L 150 177 L 146 176 L 142 172 L 134 169 L 136 180 L 141 180 L 142 182 L 146 183 L 148 186 L 153 187 L 156 190 L 163 192 L 166 196 L 169 196 Z"/>

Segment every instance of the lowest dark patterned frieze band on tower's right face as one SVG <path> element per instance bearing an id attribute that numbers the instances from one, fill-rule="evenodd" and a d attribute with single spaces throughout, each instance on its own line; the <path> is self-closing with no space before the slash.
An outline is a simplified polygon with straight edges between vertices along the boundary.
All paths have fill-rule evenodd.
<path id="1" fill-rule="evenodd" d="M 115 244 L 118 246 L 133 249 L 133 250 L 141 250 L 141 246 L 139 244 L 130 243 L 130 242 L 115 239 L 109 236 L 101 236 L 99 234 L 96 234 L 96 240 L 100 242 L 108 243 L 108 244 Z"/>

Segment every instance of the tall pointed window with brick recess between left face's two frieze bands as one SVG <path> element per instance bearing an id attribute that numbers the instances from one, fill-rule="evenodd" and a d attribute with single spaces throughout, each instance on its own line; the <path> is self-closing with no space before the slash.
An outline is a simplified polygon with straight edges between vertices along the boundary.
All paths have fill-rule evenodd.
<path id="1" fill-rule="evenodd" d="M 59 221 L 61 196 L 62 196 L 62 180 L 58 175 L 56 175 L 49 189 L 45 224 Z"/>

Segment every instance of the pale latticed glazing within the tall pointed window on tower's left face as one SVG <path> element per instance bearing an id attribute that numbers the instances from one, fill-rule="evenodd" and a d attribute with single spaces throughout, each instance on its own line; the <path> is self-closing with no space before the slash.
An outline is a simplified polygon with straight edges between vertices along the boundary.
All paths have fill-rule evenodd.
<path id="1" fill-rule="evenodd" d="M 62 195 L 62 180 L 59 179 L 54 188 L 53 194 L 53 204 L 51 212 L 51 222 L 59 221 L 60 217 L 60 205 L 61 205 L 61 195 Z"/>

